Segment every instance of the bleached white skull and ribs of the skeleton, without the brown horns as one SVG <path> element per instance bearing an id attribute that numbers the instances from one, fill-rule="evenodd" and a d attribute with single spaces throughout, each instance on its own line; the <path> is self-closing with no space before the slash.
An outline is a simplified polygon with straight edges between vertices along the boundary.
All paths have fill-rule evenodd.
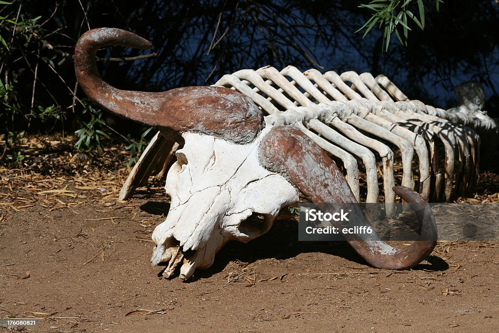
<path id="1" fill-rule="evenodd" d="M 177 151 L 178 161 L 170 169 L 165 186 L 172 198 L 171 210 L 153 234 L 157 247 L 152 263 L 168 263 L 165 277 L 172 276 L 178 266 L 181 279 L 192 276 L 196 268 L 209 267 L 227 241 L 247 242 L 261 235 L 270 228 L 280 208 L 297 201 L 293 186 L 280 175 L 262 171 L 258 164 L 254 148 L 271 125 L 295 125 L 340 159 L 356 199 L 378 200 L 373 152 L 383 163 L 385 201 L 395 199 L 391 189 L 395 185 L 394 153 L 361 131 L 399 148 L 402 184 L 412 188 L 411 163 L 416 152 L 419 191 L 425 198 L 449 200 L 454 186 L 464 191 L 476 183 L 480 137 L 474 130 L 451 121 L 457 119 L 483 128 L 489 118 L 474 120 L 469 114 L 409 100 L 384 76 L 374 78 L 369 73 L 355 72 L 338 75 L 332 71 L 321 74 L 315 69 L 302 73 L 293 66 L 279 72 L 267 66 L 225 75 L 216 85 L 249 96 L 262 109 L 267 126 L 257 140 L 242 146 L 211 136 L 183 134 L 185 146 Z M 440 144 L 445 148 L 445 172 L 438 162 Z M 366 168 L 366 198 L 359 197 L 356 158 Z M 264 219 L 246 221 L 256 213 Z"/>

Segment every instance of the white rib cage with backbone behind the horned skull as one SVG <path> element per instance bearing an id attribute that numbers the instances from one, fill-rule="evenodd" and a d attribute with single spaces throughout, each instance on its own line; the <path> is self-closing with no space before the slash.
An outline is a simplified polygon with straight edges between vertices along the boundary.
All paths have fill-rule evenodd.
<path id="1" fill-rule="evenodd" d="M 384 75 L 322 74 L 315 69 L 302 73 L 293 66 L 279 72 L 267 66 L 225 75 L 215 85 L 250 97 L 267 123 L 298 126 L 342 164 L 359 202 L 378 202 L 382 194 L 386 203 L 393 203 L 392 188 L 399 184 L 419 191 L 428 201 L 449 201 L 453 193 L 473 191 L 480 137 L 465 125 L 495 127 L 487 116 L 472 117 L 409 100 Z M 157 135 L 150 143 L 123 187 L 121 199 L 147 183 L 152 168 L 144 159 L 150 155 L 156 164 L 165 161 L 165 148 L 160 152 L 157 147 L 164 146 L 162 140 Z M 158 158 L 158 154 L 165 156 Z M 402 172 L 394 168 L 399 163 Z M 382 165 L 381 172 L 378 165 Z M 365 174 L 365 194 L 360 191 L 359 172 Z M 383 183 L 382 192 L 378 181 Z"/>

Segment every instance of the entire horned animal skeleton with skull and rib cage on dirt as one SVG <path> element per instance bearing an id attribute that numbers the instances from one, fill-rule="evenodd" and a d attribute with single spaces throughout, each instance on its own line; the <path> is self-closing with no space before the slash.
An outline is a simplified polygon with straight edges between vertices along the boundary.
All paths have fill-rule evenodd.
<path id="1" fill-rule="evenodd" d="M 227 87 L 124 91 L 105 83 L 97 72 L 95 53 L 109 45 L 149 48 L 151 44 L 125 30 L 90 30 L 75 47 L 75 69 L 82 89 L 102 108 L 159 128 L 127 183 L 127 193 L 144 175 L 163 165 L 165 156 L 175 153 L 177 157 L 166 177 L 170 212 L 152 236 L 157 246 L 151 262 L 167 263 L 166 277 L 178 266 L 183 280 L 197 268 L 210 267 L 225 243 L 260 236 L 283 207 L 300 200 L 335 203 L 335 207 L 358 201 L 357 157 L 366 168 L 367 201 L 376 202 L 377 165 L 370 149 L 382 158 L 385 202 L 394 202 L 398 194 L 411 203 L 421 235 L 404 249 L 391 247 L 375 233 L 345 239 L 375 267 L 407 269 L 428 257 L 435 247 L 435 220 L 424 203 L 433 193 L 450 195 L 454 150 L 459 156 L 460 186 L 470 187 L 476 179 L 476 133 L 432 115 L 441 111 L 421 102 L 394 101 L 387 91 L 396 99 L 404 98 L 385 77 L 315 70 L 301 73 L 294 67 L 278 72 L 264 67 L 226 75 L 217 82 Z M 460 119 L 468 121 L 467 117 Z M 433 191 L 429 166 L 437 160 L 437 138 L 446 148 L 448 177 L 439 178 L 437 173 Z M 389 144 L 401 151 L 403 186 L 394 187 L 394 153 Z M 328 153 L 344 163 L 348 183 Z M 412 189 L 414 154 L 419 158 L 421 195 Z M 444 180 L 445 191 L 439 187 Z M 256 216 L 260 219 L 253 218 Z M 358 208 L 351 212 L 351 220 L 368 225 Z M 337 227 L 345 226 L 343 223 L 338 222 Z"/>

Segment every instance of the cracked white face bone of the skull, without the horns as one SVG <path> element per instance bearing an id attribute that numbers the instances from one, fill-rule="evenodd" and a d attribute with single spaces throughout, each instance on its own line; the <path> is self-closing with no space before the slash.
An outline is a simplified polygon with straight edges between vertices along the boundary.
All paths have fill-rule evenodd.
<path id="1" fill-rule="evenodd" d="M 264 234 L 282 207 L 298 201 L 288 181 L 258 163 L 258 146 L 268 130 L 245 145 L 182 135 L 184 147 L 166 178 L 170 211 L 152 236 L 157 247 L 151 262 L 168 262 L 165 277 L 178 265 L 182 279 L 210 267 L 225 243 L 246 243 Z"/>

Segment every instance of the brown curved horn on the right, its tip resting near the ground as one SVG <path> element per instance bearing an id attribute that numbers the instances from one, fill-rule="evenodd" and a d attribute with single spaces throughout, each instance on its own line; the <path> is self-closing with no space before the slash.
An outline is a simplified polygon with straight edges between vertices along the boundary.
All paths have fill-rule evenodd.
<path id="1" fill-rule="evenodd" d="M 338 207 L 341 207 L 342 203 L 356 202 L 334 161 L 298 128 L 273 127 L 263 138 L 259 153 L 260 162 L 264 167 L 282 174 L 312 202 L 335 203 Z M 402 186 L 396 186 L 394 191 L 411 203 L 411 207 L 416 211 L 421 226 L 418 240 L 405 249 L 395 249 L 381 241 L 374 232 L 343 236 L 372 266 L 403 270 L 428 258 L 437 244 L 437 226 L 429 205 L 417 192 Z M 348 207 L 352 208 L 350 205 Z M 350 216 L 358 219 L 355 225 L 363 223 L 369 226 L 358 206 L 352 209 Z M 343 226 L 338 223 L 335 227 Z"/>

